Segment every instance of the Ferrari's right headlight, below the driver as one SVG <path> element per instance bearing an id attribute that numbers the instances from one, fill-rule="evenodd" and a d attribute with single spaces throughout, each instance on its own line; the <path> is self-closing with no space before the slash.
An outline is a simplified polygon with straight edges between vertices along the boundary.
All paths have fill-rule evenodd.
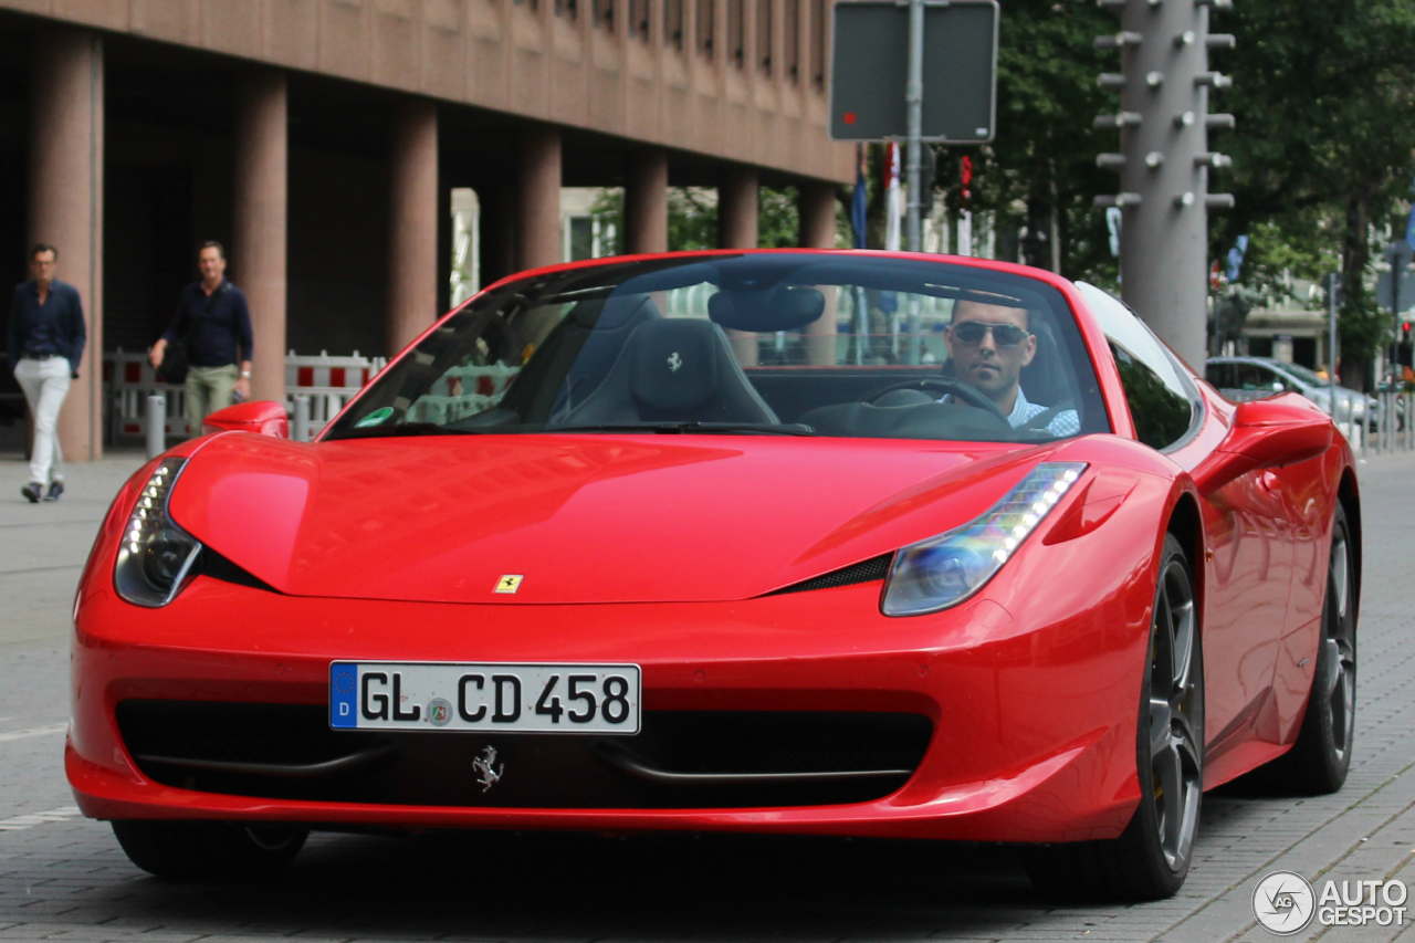
<path id="1" fill-rule="evenodd" d="M 982 589 L 1082 471 L 1085 462 L 1043 462 L 982 517 L 894 554 L 884 615 L 938 612 Z"/>

